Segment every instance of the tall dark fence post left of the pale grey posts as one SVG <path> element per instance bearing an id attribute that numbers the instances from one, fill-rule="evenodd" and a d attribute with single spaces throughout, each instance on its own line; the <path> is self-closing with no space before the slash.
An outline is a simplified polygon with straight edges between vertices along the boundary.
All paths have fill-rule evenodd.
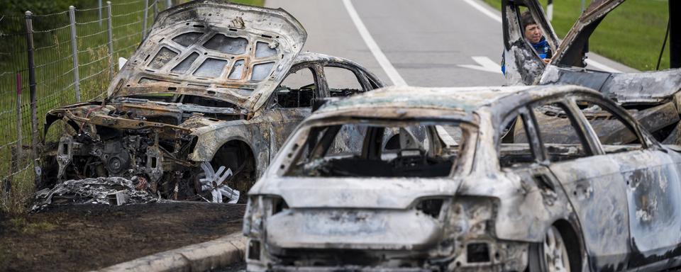
<path id="1" fill-rule="evenodd" d="M 28 47 L 28 89 L 31 96 L 31 159 L 38 157 L 38 108 L 35 97 L 35 60 L 33 59 L 33 13 L 26 11 L 26 47 Z"/>

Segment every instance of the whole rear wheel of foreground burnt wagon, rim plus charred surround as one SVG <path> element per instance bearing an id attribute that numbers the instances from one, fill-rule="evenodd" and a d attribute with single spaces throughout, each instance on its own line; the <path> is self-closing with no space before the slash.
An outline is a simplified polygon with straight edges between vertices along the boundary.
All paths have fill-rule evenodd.
<path id="1" fill-rule="evenodd" d="M 529 272 L 570 272 L 570 251 L 558 227 L 551 226 L 544 234 L 544 240 L 530 245 Z"/>

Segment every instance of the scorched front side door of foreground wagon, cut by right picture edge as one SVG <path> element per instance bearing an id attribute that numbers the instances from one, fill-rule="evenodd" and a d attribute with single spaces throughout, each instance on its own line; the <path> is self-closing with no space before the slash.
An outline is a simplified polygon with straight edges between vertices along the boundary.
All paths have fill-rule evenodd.
<path id="1" fill-rule="evenodd" d="M 593 133 L 593 135 L 596 136 L 596 140 L 598 140 L 597 144 L 601 146 L 602 153 L 619 163 L 623 182 L 626 183 L 626 198 L 629 204 L 627 207 L 629 212 L 629 245 L 631 247 L 629 261 L 627 263 L 628 268 L 639 268 L 643 270 L 671 268 L 668 259 L 681 258 L 681 234 L 677 235 L 677 237 L 665 236 L 665 233 L 673 234 L 674 229 L 681 227 L 681 208 L 674 209 L 675 207 L 681 207 L 681 177 L 679 176 L 680 174 L 678 171 L 680 164 L 674 162 L 674 159 L 668 154 L 669 151 L 656 142 L 652 135 L 645 133 L 646 130 L 642 129 L 640 123 L 634 121 L 635 119 L 629 115 L 629 113 L 619 108 L 619 106 L 616 106 L 612 101 L 597 96 L 592 96 L 589 99 L 585 98 L 586 97 L 581 97 L 582 100 L 590 99 L 597 103 L 597 105 L 607 108 L 606 111 L 614 115 L 615 118 L 636 134 L 636 137 L 641 144 L 641 149 L 605 154 L 597 134 L 595 132 Z M 574 100 L 572 103 L 574 103 L 576 107 L 577 104 Z M 586 121 L 585 115 L 581 114 L 581 112 L 577 115 Z M 588 121 L 587 125 L 591 128 Z M 651 161 L 666 163 L 650 165 L 653 163 Z M 648 165 L 640 167 L 641 164 L 639 163 L 647 163 Z M 675 165 L 670 166 L 670 164 Z M 664 181 L 663 179 L 659 179 L 660 176 L 664 176 Z M 666 184 L 664 189 L 662 189 L 663 183 Z M 658 195 L 649 195 L 648 193 L 650 191 L 659 194 L 667 193 L 668 196 L 667 198 L 658 199 Z M 655 204 L 656 209 L 652 212 L 653 215 L 650 215 L 650 217 L 654 217 L 653 219 L 661 217 L 663 220 L 676 218 L 676 220 L 673 222 L 650 222 L 652 227 L 657 226 L 657 228 L 649 229 L 648 227 L 650 227 L 650 225 L 642 219 L 642 217 L 649 212 L 646 209 L 648 208 L 648 205 L 646 204 L 646 200 L 648 199 L 650 199 L 651 203 L 658 203 L 659 201 L 668 204 L 663 205 L 662 208 L 659 208 L 659 206 Z M 664 212 L 664 210 L 670 210 L 670 213 L 672 214 L 655 217 L 655 213 L 660 213 L 660 211 Z M 670 223 L 675 224 L 676 228 L 663 229 L 664 227 L 668 227 Z M 675 238 L 676 242 L 670 241 L 671 243 L 667 244 L 665 247 L 660 247 L 663 245 L 660 245 L 660 242 L 656 242 L 653 243 L 653 246 L 658 247 L 651 248 L 649 241 L 652 237 L 657 237 L 657 240 L 660 242 L 670 241 L 670 239 Z M 639 241 L 638 243 L 636 243 L 637 238 Z M 661 255 L 661 257 L 655 257 L 659 255 Z M 667 255 L 667 258 L 665 258 L 665 255 Z"/>

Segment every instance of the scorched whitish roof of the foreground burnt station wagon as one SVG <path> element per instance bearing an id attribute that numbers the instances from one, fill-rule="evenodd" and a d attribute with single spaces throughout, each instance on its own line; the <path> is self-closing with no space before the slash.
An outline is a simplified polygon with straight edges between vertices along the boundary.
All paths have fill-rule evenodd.
<path id="1" fill-rule="evenodd" d="M 582 86 L 476 86 L 454 88 L 428 88 L 414 86 L 389 86 L 367 94 L 333 101 L 316 114 L 334 111 L 375 111 L 377 108 L 442 109 L 472 113 L 489 106 L 496 108 L 522 106 L 536 99 L 567 94 L 574 91 L 602 96 L 597 91 Z M 396 116 L 401 113 L 395 112 Z"/>

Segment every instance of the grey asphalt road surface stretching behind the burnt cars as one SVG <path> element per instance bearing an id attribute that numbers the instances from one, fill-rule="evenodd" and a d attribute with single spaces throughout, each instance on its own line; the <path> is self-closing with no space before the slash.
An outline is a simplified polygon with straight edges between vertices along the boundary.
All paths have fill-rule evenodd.
<path id="1" fill-rule="evenodd" d="M 388 84 L 394 80 L 367 46 L 346 0 L 267 0 L 284 8 L 308 32 L 304 50 L 355 60 Z M 414 86 L 480 86 L 505 83 L 500 72 L 479 66 L 472 57 L 498 64 L 502 30 L 498 21 L 463 0 L 349 0 L 368 35 L 402 77 Z M 496 12 L 496 11 L 495 11 Z"/>

